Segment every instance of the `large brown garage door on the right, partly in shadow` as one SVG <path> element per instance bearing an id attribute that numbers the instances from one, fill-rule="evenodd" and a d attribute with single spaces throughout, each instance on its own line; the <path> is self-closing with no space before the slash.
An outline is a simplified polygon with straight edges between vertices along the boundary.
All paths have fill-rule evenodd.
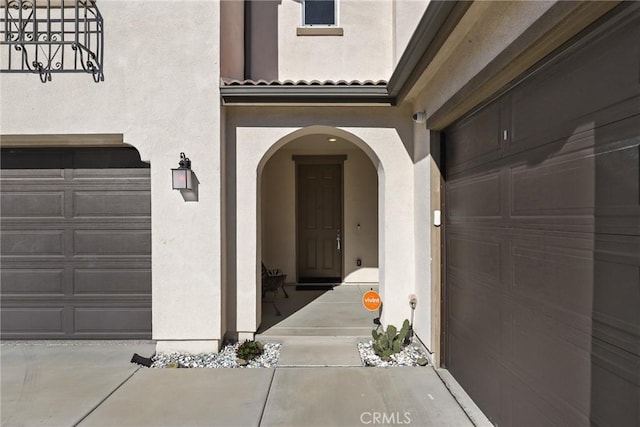
<path id="1" fill-rule="evenodd" d="M 502 426 L 640 425 L 640 13 L 445 131 L 445 362 Z"/>

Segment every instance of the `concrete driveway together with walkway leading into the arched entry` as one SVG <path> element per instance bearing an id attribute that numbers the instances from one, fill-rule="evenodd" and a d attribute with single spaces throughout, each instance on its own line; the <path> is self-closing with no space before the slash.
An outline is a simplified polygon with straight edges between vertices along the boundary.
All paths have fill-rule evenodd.
<path id="1" fill-rule="evenodd" d="M 282 343 L 275 369 L 149 369 L 130 363 L 134 353 L 151 356 L 152 342 L 3 342 L 1 424 L 490 425 L 446 371 L 362 367 L 357 343 L 369 339 L 377 316 L 360 303 L 369 289 L 288 286 L 290 298 L 276 300 L 281 316 L 265 302 L 257 338 Z"/>

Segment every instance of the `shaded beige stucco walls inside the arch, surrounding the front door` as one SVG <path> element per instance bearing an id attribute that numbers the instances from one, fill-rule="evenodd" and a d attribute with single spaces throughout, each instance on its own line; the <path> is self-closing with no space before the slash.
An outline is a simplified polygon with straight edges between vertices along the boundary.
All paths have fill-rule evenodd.
<path id="1" fill-rule="evenodd" d="M 344 154 L 343 259 L 346 283 L 378 281 L 378 177 L 371 160 L 350 143 L 312 135 L 282 147 L 262 173 L 262 259 L 296 280 L 294 155 Z M 298 143 L 298 144 L 296 144 Z M 296 144 L 296 146 L 293 146 Z M 339 144 L 339 145 L 338 145 Z M 332 145 L 337 145 L 332 147 Z M 306 146 L 308 148 L 305 148 Z M 358 224 L 360 227 L 358 228 Z M 356 265 L 356 259 L 362 265 Z"/>

